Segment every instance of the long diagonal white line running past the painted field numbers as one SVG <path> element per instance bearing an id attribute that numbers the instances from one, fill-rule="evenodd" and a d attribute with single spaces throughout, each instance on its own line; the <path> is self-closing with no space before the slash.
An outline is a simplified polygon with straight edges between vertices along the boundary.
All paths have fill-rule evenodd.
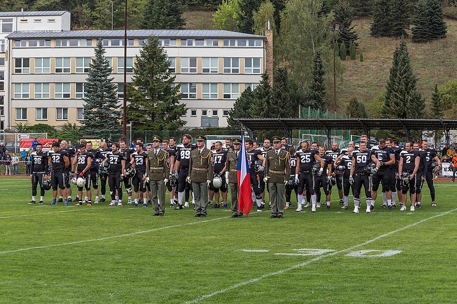
<path id="1" fill-rule="evenodd" d="M 433 218 L 435 218 L 435 217 L 439 217 L 439 216 L 442 216 L 442 215 L 445 215 L 445 214 L 454 212 L 454 211 L 456 211 L 456 210 L 457 210 L 457 208 L 452 209 L 452 210 L 449 210 L 449 211 L 446 211 L 446 212 L 444 212 L 444 213 L 442 213 L 442 214 L 437 214 L 437 215 L 434 215 L 434 216 L 431 216 L 431 217 L 428 217 L 428 218 L 425 218 L 425 219 L 416 221 L 416 222 L 414 222 L 414 223 L 412 223 L 412 224 L 406 225 L 406 226 L 401 227 L 401 228 L 399 228 L 399 229 L 397 229 L 397 230 L 394 230 L 394 231 L 388 232 L 388 233 L 386 233 L 386 234 L 380 235 L 380 236 L 378 236 L 378 237 L 376 237 L 376 238 L 374 238 L 374 239 L 371 239 L 371 240 L 369 240 L 369 241 L 366 241 L 366 242 L 364 242 L 364 243 L 357 244 L 357 245 L 348 247 L 348 248 L 343 249 L 343 250 L 339 250 L 339 251 L 331 252 L 331 253 L 328 253 L 328 254 L 320 255 L 320 256 L 317 256 L 317 257 L 312 258 L 312 259 L 310 259 L 310 260 L 307 260 L 306 262 L 303 262 L 303 263 L 300 263 L 300 264 L 293 265 L 293 266 L 291 266 L 291 267 L 289 267 L 289 268 L 285 268 L 285 269 L 282 269 L 282 270 L 279 270 L 279 271 L 275 271 L 275 272 L 272 272 L 272 273 L 269 273 L 269 274 L 262 275 L 262 276 L 260 276 L 260 277 L 254 278 L 254 279 L 250 279 L 250 280 L 247 280 L 247 281 L 244 281 L 244 282 L 240 282 L 240 283 L 237 283 L 237 284 L 232 285 L 232 286 L 230 286 L 230 287 L 226 287 L 226 288 L 223 288 L 223 289 L 214 291 L 214 292 L 212 292 L 212 293 L 204 294 L 204 295 L 202 295 L 202 296 L 199 296 L 199 297 L 196 298 L 196 299 L 193 299 L 193 300 L 191 300 L 191 301 L 185 302 L 185 304 L 188 304 L 188 303 L 197 303 L 197 302 L 200 302 L 200 301 L 202 301 L 202 300 L 204 300 L 204 299 L 210 298 L 210 297 L 212 297 L 212 296 L 215 296 L 215 295 L 218 295 L 218 294 L 227 292 L 227 291 L 229 291 L 229 290 L 237 289 L 237 288 L 239 288 L 239 287 L 241 287 L 241 286 L 244 286 L 244 285 L 247 285 L 247 284 L 251 284 L 251 283 L 255 283 L 255 282 L 257 282 L 257 281 L 260 281 L 260 280 L 265 279 L 265 278 L 268 278 L 268 277 L 272 277 L 272 276 L 276 276 L 276 275 L 281 275 L 281 274 L 283 274 L 283 273 L 285 273 L 285 272 L 288 272 L 288 271 L 291 271 L 291 270 L 294 270 L 294 269 L 297 269 L 297 268 L 305 267 L 306 265 L 309 265 L 309 264 L 311 264 L 311 263 L 313 263 L 313 262 L 315 262 L 315 261 L 318 261 L 318 260 L 320 260 L 320 259 L 323 259 L 323 258 L 325 258 L 325 257 L 334 256 L 334 255 L 337 255 L 337 254 L 340 254 L 340 253 L 343 253 L 343 252 L 351 251 L 351 250 L 353 250 L 353 249 L 355 249 L 355 248 L 358 248 L 358 247 L 362 247 L 362 246 L 368 245 L 368 244 L 373 243 L 373 242 L 375 242 L 375 241 L 377 241 L 377 240 L 379 240 L 379 239 L 388 237 L 388 236 L 393 235 L 393 234 L 395 234 L 395 233 L 397 233 L 397 232 L 403 231 L 403 230 L 405 230 L 405 229 L 408 229 L 408 228 L 410 228 L 410 227 L 413 227 L 413 226 L 415 226 L 415 225 L 418 225 L 418 224 L 420 224 L 420 223 L 423 223 L 423 222 L 428 221 L 428 220 L 430 220 L 430 219 L 433 219 Z"/>

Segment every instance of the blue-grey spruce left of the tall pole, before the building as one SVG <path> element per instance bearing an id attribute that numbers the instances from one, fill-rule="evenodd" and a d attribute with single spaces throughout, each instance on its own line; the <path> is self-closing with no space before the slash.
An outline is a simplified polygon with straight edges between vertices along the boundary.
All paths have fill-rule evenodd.
<path id="1" fill-rule="evenodd" d="M 84 120 L 81 122 L 86 133 L 106 136 L 120 133 L 122 118 L 117 99 L 116 85 L 112 82 L 111 67 L 105 58 L 102 41 L 94 49 L 95 58 L 84 83 Z"/>

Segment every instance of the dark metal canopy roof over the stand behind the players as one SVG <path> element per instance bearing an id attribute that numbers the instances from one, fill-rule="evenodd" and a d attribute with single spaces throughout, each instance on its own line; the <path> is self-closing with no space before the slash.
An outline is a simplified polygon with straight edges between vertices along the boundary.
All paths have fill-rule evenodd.
<path id="1" fill-rule="evenodd" d="M 444 130 L 449 144 L 449 130 L 457 130 L 457 120 L 440 119 L 250 119 L 241 118 L 238 121 L 247 129 L 254 130 L 284 130 L 292 138 L 292 130 L 319 129 L 325 130 L 330 142 L 331 130 L 364 130 L 370 136 L 371 130 L 405 130 L 409 140 L 411 130 Z"/>

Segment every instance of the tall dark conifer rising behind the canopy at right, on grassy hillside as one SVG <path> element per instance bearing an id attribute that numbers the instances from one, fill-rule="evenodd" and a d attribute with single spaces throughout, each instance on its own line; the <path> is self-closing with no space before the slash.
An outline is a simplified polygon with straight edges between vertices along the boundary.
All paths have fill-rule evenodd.
<path id="1" fill-rule="evenodd" d="M 417 78 L 413 74 L 408 48 L 402 39 L 397 46 L 393 66 L 390 68 L 386 87 L 385 112 L 390 117 L 422 118 L 425 112 L 425 101 L 416 87 Z"/>

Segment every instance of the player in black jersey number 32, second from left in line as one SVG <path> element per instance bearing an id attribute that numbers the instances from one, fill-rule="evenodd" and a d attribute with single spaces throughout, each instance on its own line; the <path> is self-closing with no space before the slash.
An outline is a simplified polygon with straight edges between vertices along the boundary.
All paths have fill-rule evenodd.
<path id="1" fill-rule="evenodd" d="M 52 144 L 53 151 L 48 153 L 49 163 L 52 165 L 51 170 L 51 185 L 52 185 L 52 202 L 50 205 L 56 204 L 57 186 L 61 190 L 64 202 L 63 205 L 68 205 L 67 192 L 65 191 L 65 181 L 67 178 L 66 170 L 70 165 L 68 154 L 66 151 L 60 150 L 60 145 L 56 141 Z"/>

